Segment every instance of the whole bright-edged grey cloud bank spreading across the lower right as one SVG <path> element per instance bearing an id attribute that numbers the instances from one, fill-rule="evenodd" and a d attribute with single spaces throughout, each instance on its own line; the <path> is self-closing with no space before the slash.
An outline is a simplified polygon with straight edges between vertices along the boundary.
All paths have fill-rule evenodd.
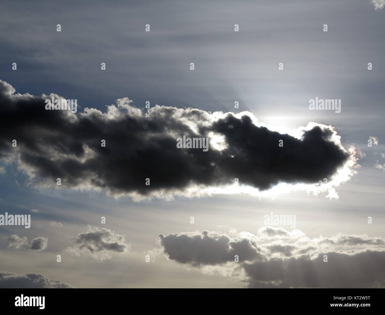
<path id="1" fill-rule="evenodd" d="M 242 275 L 239 280 L 249 287 L 385 287 L 385 240 L 379 237 L 308 238 L 300 230 L 275 227 L 233 238 L 207 231 L 159 237 L 170 260 L 204 272 L 222 268 L 223 275 Z"/>

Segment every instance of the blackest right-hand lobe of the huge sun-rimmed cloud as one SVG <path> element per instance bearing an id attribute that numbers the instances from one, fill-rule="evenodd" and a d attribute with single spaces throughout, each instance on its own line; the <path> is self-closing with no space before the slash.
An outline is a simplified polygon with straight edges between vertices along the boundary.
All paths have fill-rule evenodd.
<path id="1" fill-rule="evenodd" d="M 243 183 L 268 189 L 279 182 L 316 183 L 333 175 L 348 154 L 331 142 L 332 131 L 314 127 L 301 140 L 257 127 L 248 116 L 232 115 L 210 127 L 224 135 L 228 149 L 216 166 L 223 180 L 239 177 Z M 283 140 L 283 147 L 278 143 Z"/>

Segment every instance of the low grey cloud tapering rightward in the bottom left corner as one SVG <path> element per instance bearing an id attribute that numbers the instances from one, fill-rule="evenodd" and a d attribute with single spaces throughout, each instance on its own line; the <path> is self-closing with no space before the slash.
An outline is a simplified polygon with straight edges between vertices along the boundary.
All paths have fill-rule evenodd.
<path id="1" fill-rule="evenodd" d="M 40 273 L 0 272 L 0 288 L 74 288 L 58 280 L 49 280 Z"/>

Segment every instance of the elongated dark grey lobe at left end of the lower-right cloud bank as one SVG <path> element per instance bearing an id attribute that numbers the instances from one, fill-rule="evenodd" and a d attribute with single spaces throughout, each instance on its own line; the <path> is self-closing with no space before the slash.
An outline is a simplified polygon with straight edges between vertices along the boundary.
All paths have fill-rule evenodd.
<path id="1" fill-rule="evenodd" d="M 231 239 L 207 231 L 200 235 L 160 234 L 159 238 L 164 253 L 171 260 L 193 266 L 234 262 L 235 255 L 240 262 L 255 260 L 259 256 L 256 245 L 246 238 Z"/>

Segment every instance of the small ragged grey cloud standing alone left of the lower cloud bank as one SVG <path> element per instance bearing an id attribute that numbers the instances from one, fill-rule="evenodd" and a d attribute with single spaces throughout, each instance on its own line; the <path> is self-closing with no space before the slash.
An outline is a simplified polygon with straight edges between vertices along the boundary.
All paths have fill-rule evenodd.
<path id="1" fill-rule="evenodd" d="M 95 259 L 104 260 L 112 258 L 108 252 L 126 252 L 130 245 L 126 244 L 123 235 L 106 228 L 88 226 L 88 231 L 79 233 L 74 238 L 75 245 L 68 247 L 65 252 L 79 257 L 81 254 L 89 255 Z"/>

